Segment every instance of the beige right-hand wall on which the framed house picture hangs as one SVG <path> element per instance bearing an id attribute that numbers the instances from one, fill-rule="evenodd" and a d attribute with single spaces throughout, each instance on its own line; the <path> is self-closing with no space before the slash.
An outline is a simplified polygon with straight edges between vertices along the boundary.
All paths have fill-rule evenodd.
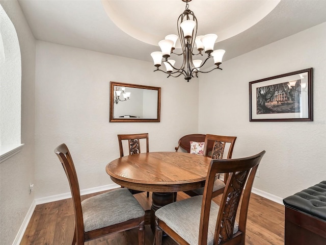
<path id="1" fill-rule="evenodd" d="M 325 40 L 322 23 L 228 60 L 223 71 L 200 78 L 199 132 L 237 136 L 233 157 L 266 150 L 254 188 L 280 199 L 325 180 Z M 313 121 L 249 121 L 249 82 L 310 67 Z M 215 96 L 207 96 L 212 90 Z"/>

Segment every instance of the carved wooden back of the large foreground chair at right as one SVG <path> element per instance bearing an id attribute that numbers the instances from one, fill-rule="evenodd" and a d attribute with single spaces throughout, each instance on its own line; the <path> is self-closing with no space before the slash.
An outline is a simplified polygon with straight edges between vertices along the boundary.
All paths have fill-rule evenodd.
<path id="1" fill-rule="evenodd" d="M 265 154 L 261 153 L 240 159 L 212 159 L 202 201 L 199 243 L 207 244 L 208 220 L 213 194 L 213 185 L 216 174 L 230 173 L 220 204 L 214 244 L 244 244 L 246 239 L 246 224 L 251 189 L 255 179 L 258 165 Z M 246 189 L 243 190 L 244 186 Z M 243 191 L 242 201 L 241 194 Z M 233 234 L 235 216 L 239 213 L 239 230 Z"/>

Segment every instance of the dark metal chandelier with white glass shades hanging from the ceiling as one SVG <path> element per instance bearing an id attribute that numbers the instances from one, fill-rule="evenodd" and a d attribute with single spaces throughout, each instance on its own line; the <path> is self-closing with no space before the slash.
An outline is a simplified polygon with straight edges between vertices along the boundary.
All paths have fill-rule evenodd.
<path id="1" fill-rule="evenodd" d="M 179 16 L 177 21 L 178 27 L 178 36 L 171 34 L 165 37 L 164 40 L 158 42 L 159 47 L 161 48 L 161 52 L 153 52 L 151 56 L 154 61 L 154 66 L 156 70 L 160 70 L 169 74 L 172 77 L 179 77 L 181 74 L 184 76 L 184 79 L 189 82 L 194 77 L 198 78 L 198 72 L 208 73 L 214 69 L 220 69 L 220 64 L 222 64 L 222 58 L 225 53 L 225 50 L 215 50 L 214 43 L 218 38 L 216 34 L 207 34 L 204 36 L 197 36 L 197 18 L 193 11 L 191 11 L 188 7 L 188 2 L 192 0 L 182 0 L 186 3 L 185 10 Z M 182 53 L 176 54 L 175 43 L 180 39 Z M 197 47 L 197 52 L 194 54 L 194 47 Z M 195 56 L 203 56 L 202 52 L 205 50 L 207 54 L 207 58 L 204 61 L 200 59 L 194 59 Z M 175 60 L 169 59 L 171 54 L 183 56 L 182 64 L 179 68 L 175 67 Z M 162 61 L 162 58 L 164 60 Z M 213 58 L 214 64 L 216 67 L 212 68 L 209 71 L 201 71 L 200 68 L 206 63 L 208 59 Z M 166 71 L 161 70 L 159 67 L 161 66 L 161 62 L 163 62 L 166 66 Z M 156 71 L 154 70 L 154 71 Z"/>

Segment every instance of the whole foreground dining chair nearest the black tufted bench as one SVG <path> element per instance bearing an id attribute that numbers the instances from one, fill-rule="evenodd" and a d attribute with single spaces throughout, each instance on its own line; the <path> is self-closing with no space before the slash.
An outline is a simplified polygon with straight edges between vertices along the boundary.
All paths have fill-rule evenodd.
<path id="1" fill-rule="evenodd" d="M 162 244 L 162 231 L 178 244 L 244 244 L 251 189 L 264 154 L 262 151 L 240 159 L 212 159 L 204 195 L 168 204 L 155 212 L 155 244 Z M 212 198 L 215 176 L 221 173 L 230 175 L 219 206 Z"/>

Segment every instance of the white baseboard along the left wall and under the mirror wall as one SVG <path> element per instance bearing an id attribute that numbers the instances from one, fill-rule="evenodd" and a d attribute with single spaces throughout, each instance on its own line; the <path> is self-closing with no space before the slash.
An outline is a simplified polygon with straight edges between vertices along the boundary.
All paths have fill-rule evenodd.
<path id="1" fill-rule="evenodd" d="M 95 192 L 99 192 L 99 191 L 104 191 L 104 190 L 111 190 L 111 189 L 115 189 L 115 188 L 119 188 L 120 185 L 117 184 L 110 184 L 110 185 L 103 185 L 103 186 L 98 186 L 98 187 L 94 187 L 94 188 L 89 188 L 89 189 L 85 189 L 85 190 L 80 190 L 80 195 L 86 195 L 86 194 L 91 194 L 91 193 L 95 193 Z M 45 198 L 38 198 L 35 199 L 29 209 L 29 211 L 27 212 L 24 221 L 16 235 L 16 238 L 14 240 L 14 242 L 12 243 L 13 245 L 19 245 L 25 230 L 31 220 L 31 217 L 33 215 L 34 209 L 36 207 L 36 205 L 39 204 L 44 204 L 44 203 L 50 203 L 50 202 L 55 202 L 55 201 L 59 201 L 59 200 L 63 200 L 63 199 L 67 199 L 67 198 L 71 198 L 71 192 L 69 193 L 63 193 L 63 194 L 59 194 L 59 195 L 51 195 L 50 197 L 45 197 Z"/>

